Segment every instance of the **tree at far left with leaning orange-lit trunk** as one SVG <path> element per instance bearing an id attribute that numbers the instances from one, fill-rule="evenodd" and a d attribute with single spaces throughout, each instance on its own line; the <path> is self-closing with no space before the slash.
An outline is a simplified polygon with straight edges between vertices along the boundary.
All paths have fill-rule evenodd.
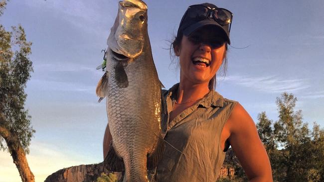
<path id="1" fill-rule="evenodd" d="M 5 4 L 0 2 L 0 16 Z M 11 154 L 23 182 L 34 182 L 25 156 L 35 132 L 24 108 L 24 88 L 33 71 L 28 58 L 31 43 L 20 25 L 11 29 L 6 31 L 0 24 L 0 149 Z"/>

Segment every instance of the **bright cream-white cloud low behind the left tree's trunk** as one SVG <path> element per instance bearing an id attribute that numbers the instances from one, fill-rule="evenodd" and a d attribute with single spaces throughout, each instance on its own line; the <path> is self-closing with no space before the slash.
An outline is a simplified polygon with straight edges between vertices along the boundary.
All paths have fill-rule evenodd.
<path id="1" fill-rule="evenodd" d="M 52 173 L 71 166 L 93 164 L 95 159 L 82 156 L 42 142 L 32 142 L 30 154 L 26 156 L 36 182 L 43 182 Z M 17 168 L 9 153 L 0 152 L 0 182 L 21 182 Z"/>

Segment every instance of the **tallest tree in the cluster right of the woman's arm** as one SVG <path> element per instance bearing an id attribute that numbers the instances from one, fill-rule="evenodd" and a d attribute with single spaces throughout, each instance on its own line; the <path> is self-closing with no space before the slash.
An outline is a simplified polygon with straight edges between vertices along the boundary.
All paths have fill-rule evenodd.
<path id="1" fill-rule="evenodd" d="M 308 124 L 303 123 L 302 111 L 295 111 L 297 98 L 293 94 L 284 92 L 277 97 L 279 111 L 278 121 L 274 123 L 277 141 L 284 148 L 281 164 L 285 166 L 284 181 L 307 181 L 311 137 Z"/>

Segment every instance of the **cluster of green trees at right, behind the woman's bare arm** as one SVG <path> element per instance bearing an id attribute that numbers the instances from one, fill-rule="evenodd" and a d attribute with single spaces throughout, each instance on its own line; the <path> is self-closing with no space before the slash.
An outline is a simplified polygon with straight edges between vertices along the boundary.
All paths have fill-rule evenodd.
<path id="1" fill-rule="evenodd" d="M 286 92 L 277 97 L 278 120 L 258 115 L 257 129 L 267 150 L 277 182 L 319 182 L 324 179 L 324 129 L 314 123 L 312 132 L 295 111 L 297 98 Z M 280 146 L 280 149 L 278 149 Z"/>

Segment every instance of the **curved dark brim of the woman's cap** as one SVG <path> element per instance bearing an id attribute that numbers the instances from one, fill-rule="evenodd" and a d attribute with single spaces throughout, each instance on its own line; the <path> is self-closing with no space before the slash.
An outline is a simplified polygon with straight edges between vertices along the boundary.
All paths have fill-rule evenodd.
<path id="1" fill-rule="evenodd" d="M 213 20 L 203 20 L 190 25 L 183 30 L 183 35 L 189 36 L 192 32 L 206 25 L 214 25 L 216 28 L 221 30 L 224 34 L 225 39 L 227 40 L 227 43 L 231 44 L 229 39 L 228 25 L 221 26 L 220 24 L 218 24 L 216 21 Z"/>

